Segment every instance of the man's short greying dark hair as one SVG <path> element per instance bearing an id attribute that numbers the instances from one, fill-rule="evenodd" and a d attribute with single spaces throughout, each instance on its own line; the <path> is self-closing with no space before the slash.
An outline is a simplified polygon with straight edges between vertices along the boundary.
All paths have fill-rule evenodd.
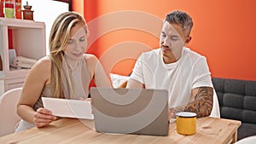
<path id="1" fill-rule="evenodd" d="M 174 10 L 170 14 L 167 14 L 165 21 L 169 22 L 170 24 L 177 24 L 179 26 L 182 26 L 183 31 L 188 32 L 188 36 L 193 27 L 193 21 L 189 14 L 180 10 Z"/>

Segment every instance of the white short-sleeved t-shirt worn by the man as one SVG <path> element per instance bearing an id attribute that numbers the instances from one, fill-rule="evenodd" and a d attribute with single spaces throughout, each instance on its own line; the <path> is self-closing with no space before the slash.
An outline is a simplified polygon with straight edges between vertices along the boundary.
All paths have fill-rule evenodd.
<path id="1" fill-rule="evenodd" d="M 145 84 L 145 89 L 167 89 L 169 107 L 185 106 L 194 101 L 191 90 L 197 87 L 212 87 L 211 72 L 206 57 L 183 48 L 177 62 L 165 64 L 161 50 L 143 53 L 131 73 L 131 77 Z"/>

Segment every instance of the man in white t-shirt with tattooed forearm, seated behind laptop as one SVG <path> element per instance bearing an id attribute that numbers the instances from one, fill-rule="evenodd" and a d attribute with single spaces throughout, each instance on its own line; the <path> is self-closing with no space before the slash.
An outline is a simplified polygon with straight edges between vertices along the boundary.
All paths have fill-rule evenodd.
<path id="1" fill-rule="evenodd" d="M 193 21 L 189 14 L 175 10 L 166 15 L 160 34 L 160 49 L 143 53 L 126 88 L 167 89 L 169 118 L 176 112 L 212 112 L 213 86 L 207 60 L 189 48 Z"/>

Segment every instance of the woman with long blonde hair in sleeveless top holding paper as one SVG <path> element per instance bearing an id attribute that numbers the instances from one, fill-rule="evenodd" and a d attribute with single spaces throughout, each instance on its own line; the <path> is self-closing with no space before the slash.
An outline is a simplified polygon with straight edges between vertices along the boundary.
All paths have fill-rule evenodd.
<path id="1" fill-rule="evenodd" d="M 86 99 L 92 78 L 97 86 L 111 87 L 100 61 L 84 54 L 88 28 L 84 18 L 74 12 L 60 14 L 49 35 L 49 56 L 38 60 L 26 77 L 17 105 L 22 118 L 16 131 L 55 121 L 44 109 L 42 97 Z"/>

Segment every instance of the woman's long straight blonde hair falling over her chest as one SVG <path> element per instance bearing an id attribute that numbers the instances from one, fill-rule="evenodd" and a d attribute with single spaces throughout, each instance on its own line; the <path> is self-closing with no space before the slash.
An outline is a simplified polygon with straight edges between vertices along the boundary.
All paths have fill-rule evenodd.
<path id="1" fill-rule="evenodd" d="M 77 24 L 83 25 L 86 35 L 89 34 L 84 17 L 75 12 L 60 14 L 55 19 L 49 34 L 50 84 L 52 95 L 56 98 L 72 98 L 74 95 L 73 79 L 64 57 L 64 50 L 68 43 L 71 29 Z"/>

